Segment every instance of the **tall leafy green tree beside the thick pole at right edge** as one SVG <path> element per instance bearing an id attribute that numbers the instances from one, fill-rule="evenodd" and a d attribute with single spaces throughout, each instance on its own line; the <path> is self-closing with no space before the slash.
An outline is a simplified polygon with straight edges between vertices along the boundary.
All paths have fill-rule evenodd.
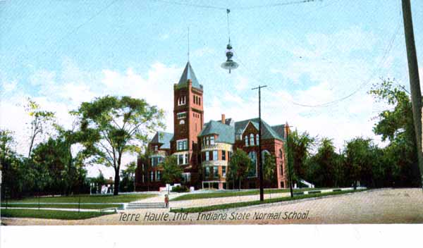
<path id="1" fill-rule="evenodd" d="M 379 122 L 373 128 L 376 135 L 389 144 L 384 148 L 386 180 L 396 186 L 420 185 L 417 162 L 417 140 L 412 119 L 410 96 L 404 87 L 394 80 L 383 80 L 369 91 L 377 101 L 390 107 L 376 117 Z"/>

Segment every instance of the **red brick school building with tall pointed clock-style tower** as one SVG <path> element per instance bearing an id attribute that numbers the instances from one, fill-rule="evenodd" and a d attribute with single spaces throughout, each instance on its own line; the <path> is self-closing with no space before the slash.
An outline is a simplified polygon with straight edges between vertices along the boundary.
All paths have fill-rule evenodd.
<path id="1" fill-rule="evenodd" d="M 286 125 L 270 126 L 262 120 L 262 154 L 275 156 L 275 180 L 265 187 L 287 187 L 284 142 Z M 178 84 L 173 85 L 173 133 L 157 132 L 149 142 L 149 156 L 138 159 L 135 173 L 136 190 L 158 190 L 161 182 L 161 161 L 176 156 L 183 168 L 183 184 L 199 188 L 226 189 L 228 161 L 234 149 L 243 149 L 255 162 L 241 183 L 243 188 L 259 187 L 258 142 L 259 119 L 236 121 L 226 118 L 204 124 L 203 87 L 190 63 L 183 70 Z M 263 157 L 263 156 L 262 156 Z"/>

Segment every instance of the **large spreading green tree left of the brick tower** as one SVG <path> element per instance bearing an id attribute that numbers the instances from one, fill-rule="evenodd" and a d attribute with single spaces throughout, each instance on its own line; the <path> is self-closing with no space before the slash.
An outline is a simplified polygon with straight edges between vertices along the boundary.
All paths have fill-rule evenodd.
<path id="1" fill-rule="evenodd" d="M 164 111 L 144 99 L 106 96 L 82 103 L 78 113 L 81 130 L 90 137 L 84 145 L 92 151 L 92 163 L 114 168 L 117 195 L 123 154 L 139 153 L 149 134 L 164 128 Z"/>

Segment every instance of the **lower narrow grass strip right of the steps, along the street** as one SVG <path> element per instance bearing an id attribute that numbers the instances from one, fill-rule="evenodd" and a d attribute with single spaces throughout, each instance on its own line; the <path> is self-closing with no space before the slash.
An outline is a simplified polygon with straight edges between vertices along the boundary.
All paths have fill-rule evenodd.
<path id="1" fill-rule="evenodd" d="M 362 192 L 364 190 L 345 190 L 345 191 L 338 191 L 338 192 L 327 192 L 327 193 L 320 193 L 320 194 L 301 194 L 294 196 L 293 198 L 290 197 L 281 197 L 281 198 L 274 198 L 274 199 L 265 199 L 264 202 L 260 201 L 250 201 L 250 202 L 234 202 L 229 204 L 220 204 L 220 205 L 212 205 L 212 206 L 198 206 L 192 207 L 187 209 L 171 209 L 173 213 L 198 213 L 198 212 L 207 212 L 207 211 L 215 211 L 221 209 L 232 209 L 238 208 L 242 206 L 252 206 L 252 205 L 259 205 L 259 204 L 268 204 L 273 202 L 286 202 L 298 199 L 306 199 L 312 197 L 324 197 L 328 195 L 336 195 L 336 194 L 347 194 L 351 192 Z"/>

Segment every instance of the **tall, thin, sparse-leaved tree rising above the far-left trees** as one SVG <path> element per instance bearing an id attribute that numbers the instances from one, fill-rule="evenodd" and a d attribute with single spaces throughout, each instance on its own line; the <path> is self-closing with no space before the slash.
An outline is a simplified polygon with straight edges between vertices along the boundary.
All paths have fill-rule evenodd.
<path id="1" fill-rule="evenodd" d="M 32 101 L 30 98 L 27 99 L 27 106 L 25 110 L 31 117 L 30 122 L 30 150 L 28 151 L 28 158 L 31 156 L 32 147 L 34 146 L 35 140 L 39 135 L 42 135 L 49 124 L 54 120 L 54 113 L 51 111 L 42 111 L 39 105 Z"/>

